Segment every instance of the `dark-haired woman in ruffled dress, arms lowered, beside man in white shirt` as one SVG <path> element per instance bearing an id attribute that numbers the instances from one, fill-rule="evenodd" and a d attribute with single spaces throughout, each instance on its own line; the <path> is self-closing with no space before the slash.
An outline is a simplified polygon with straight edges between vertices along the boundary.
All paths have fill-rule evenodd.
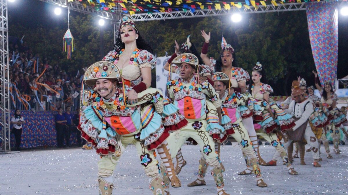
<path id="1" fill-rule="evenodd" d="M 266 80 L 266 75 L 262 74 L 262 72 L 262 65 L 256 63 L 256 66 L 253 67 L 252 71 L 251 84 L 248 86 L 250 93 L 256 100 L 256 102 L 254 102 L 254 107 L 258 106 L 262 108 L 263 119 L 262 122 L 255 124 L 255 128 L 257 127 L 256 129 L 258 129 L 256 130 L 256 134 L 265 138 L 276 148 L 278 154 L 282 157 L 283 162 L 288 168 L 288 173 L 290 175 L 298 175 L 288 160 L 287 153 L 277 135 L 277 131 L 282 130 L 282 132 L 284 132 L 285 130 L 294 127 L 295 124 L 291 116 L 279 108 L 277 103 L 269 97 L 269 94 L 273 93 L 273 89 L 271 86 L 261 83 L 261 79 Z M 272 111 L 269 111 L 269 107 L 274 110 L 275 116 Z M 267 165 L 276 165 L 276 160 L 271 160 Z"/>

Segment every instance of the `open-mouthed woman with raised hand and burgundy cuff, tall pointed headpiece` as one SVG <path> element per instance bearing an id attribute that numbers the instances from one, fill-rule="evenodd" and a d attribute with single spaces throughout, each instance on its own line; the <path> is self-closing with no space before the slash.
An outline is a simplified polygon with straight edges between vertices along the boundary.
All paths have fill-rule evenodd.
<path id="1" fill-rule="evenodd" d="M 240 67 L 237 67 L 237 58 L 235 50 L 232 48 L 230 44 L 227 44 L 224 37 L 222 37 L 221 48 L 222 53 L 220 58 L 216 61 L 213 58 L 209 58 L 207 56 L 208 46 L 210 41 L 210 32 L 207 34 L 205 31 L 201 31 L 201 35 L 204 37 L 204 45 L 202 47 L 202 51 L 200 57 L 204 61 L 206 65 L 210 65 L 214 67 L 214 72 L 223 72 L 228 75 L 231 80 L 232 88 L 230 92 L 239 92 L 245 96 L 250 97 L 250 94 L 246 91 L 246 82 L 250 80 L 249 74 Z M 233 90 L 232 90 L 233 89 Z M 247 129 L 249 137 L 251 139 L 251 144 L 255 152 L 258 154 L 260 165 L 266 165 L 266 162 L 261 158 L 259 152 L 259 143 L 258 138 L 255 132 L 254 124 L 253 124 L 253 107 L 252 105 L 241 105 L 240 106 L 240 114 L 242 117 L 242 123 L 244 127 Z M 255 112 L 256 113 L 256 112 Z M 261 114 L 261 112 L 259 112 Z M 258 118 L 258 117 L 254 117 Z"/>

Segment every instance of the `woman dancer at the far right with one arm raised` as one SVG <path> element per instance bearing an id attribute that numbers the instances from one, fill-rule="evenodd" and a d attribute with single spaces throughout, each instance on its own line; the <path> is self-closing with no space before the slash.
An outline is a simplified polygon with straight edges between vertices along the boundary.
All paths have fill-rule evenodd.
<path id="1" fill-rule="evenodd" d="M 329 82 L 324 83 L 324 88 L 319 85 L 318 73 L 312 71 L 315 76 L 315 86 L 322 95 L 321 102 L 323 104 L 324 112 L 326 113 L 327 118 L 330 120 L 330 124 L 325 128 L 325 135 L 327 132 L 330 132 L 330 135 L 333 140 L 333 147 L 335 154 L 341 154 L 339 150 L 340 142 L 340 130 L 339 127 L 342 123 L 346 122 L 346 115 L 344 115 L 337 107 L 338 97 L 332 90 L 332 86 Z"/>

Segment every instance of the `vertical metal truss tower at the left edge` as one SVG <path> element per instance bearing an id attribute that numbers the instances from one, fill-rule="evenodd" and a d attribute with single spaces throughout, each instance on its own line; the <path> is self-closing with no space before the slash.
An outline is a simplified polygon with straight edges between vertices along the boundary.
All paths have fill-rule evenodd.
<path id="1" fill-rule="evenodd" d="M 7 0 L 0 0 L 0 151 L 11 151 Z"/>

